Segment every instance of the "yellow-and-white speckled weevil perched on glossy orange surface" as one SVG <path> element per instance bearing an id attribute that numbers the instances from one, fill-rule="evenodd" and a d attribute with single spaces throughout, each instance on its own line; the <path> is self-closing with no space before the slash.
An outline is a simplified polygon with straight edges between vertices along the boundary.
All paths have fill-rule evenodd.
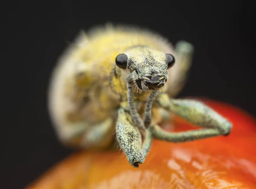
<path id="1" fill-rule="evenodd" d="M 59 140 L 76 148 L 118 144 L 131 166 L 145 161 L 152 138 L 185 142 L 227 135 L 232 124 L 195 99 L 175 99 L 194 47 L 175 47 L 156 32 L 131 26 L 81 32 L 52 72 L 49 113 Z M 174 113 L 198 130 L 171 133 L 159 125 Z M 115 141 L 117 141 L 115 143 Z"/>

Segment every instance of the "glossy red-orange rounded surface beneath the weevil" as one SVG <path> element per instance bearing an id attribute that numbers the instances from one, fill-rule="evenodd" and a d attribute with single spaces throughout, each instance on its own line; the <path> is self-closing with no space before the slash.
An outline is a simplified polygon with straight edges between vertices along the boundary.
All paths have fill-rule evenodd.
<path id="1" fill-rule="evenodd" d="M 229 136 L 154 140 L 139 168 L 121 151 L 77 152 L 27 189 L 256 189 L 256 119 L 230 105 L 204 102 L 233 123 Z M 176 117 L 170 131 L 192 128 Z"/>

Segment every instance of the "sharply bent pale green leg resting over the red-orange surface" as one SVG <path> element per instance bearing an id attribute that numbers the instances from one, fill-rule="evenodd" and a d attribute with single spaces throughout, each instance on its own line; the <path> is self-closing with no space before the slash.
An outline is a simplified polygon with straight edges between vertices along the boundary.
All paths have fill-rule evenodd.
<path id="1" fill-rule="evenodd" d="M 187 131 L 177 134 L 162 131 L 160 127 L 154 127 L 153 136 L 157 139 L 168 140 L 172 142 L 184 142 L 189 140 L 198 140 L 218 135 L 227 135 L 230 133 L 232 124 L 207 105 L 193 99 L 169 99 L 167 94 L 157 97 L 157 103 L 166 110 L 175 113 L 188 122 L 204 127 L 196 131 Z"/>

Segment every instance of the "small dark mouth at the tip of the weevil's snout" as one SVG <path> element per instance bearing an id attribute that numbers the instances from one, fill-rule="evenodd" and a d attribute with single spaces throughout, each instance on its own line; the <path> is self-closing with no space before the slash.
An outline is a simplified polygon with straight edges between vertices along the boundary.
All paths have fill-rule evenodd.
<path id="1" fill-rule="evenodd" d="M 162 74 L 152 73 L 151 75 L 146 76 L 148 79 L 145 81 L 145 84 L 149 89 L 158 89 L 163 87 L 167 81 L 166 77 Z"/>

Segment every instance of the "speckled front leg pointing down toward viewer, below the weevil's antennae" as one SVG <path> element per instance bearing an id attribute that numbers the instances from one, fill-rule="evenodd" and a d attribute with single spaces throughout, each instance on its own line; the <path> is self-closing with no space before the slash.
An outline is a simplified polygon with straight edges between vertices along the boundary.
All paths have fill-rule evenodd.
<path id="1" fill-rule="evenodd" d="M 139 167 L 143 163 L 151 148 L 151 131 L 145 131 L 145 139 L 142 144 L 142 137 L 137 127 L 129 121 L 130 114 L 120 108 L 116 123 L 116 139 L 120 147 L 125 152 L 129 163 L 133 167 Z"/>

